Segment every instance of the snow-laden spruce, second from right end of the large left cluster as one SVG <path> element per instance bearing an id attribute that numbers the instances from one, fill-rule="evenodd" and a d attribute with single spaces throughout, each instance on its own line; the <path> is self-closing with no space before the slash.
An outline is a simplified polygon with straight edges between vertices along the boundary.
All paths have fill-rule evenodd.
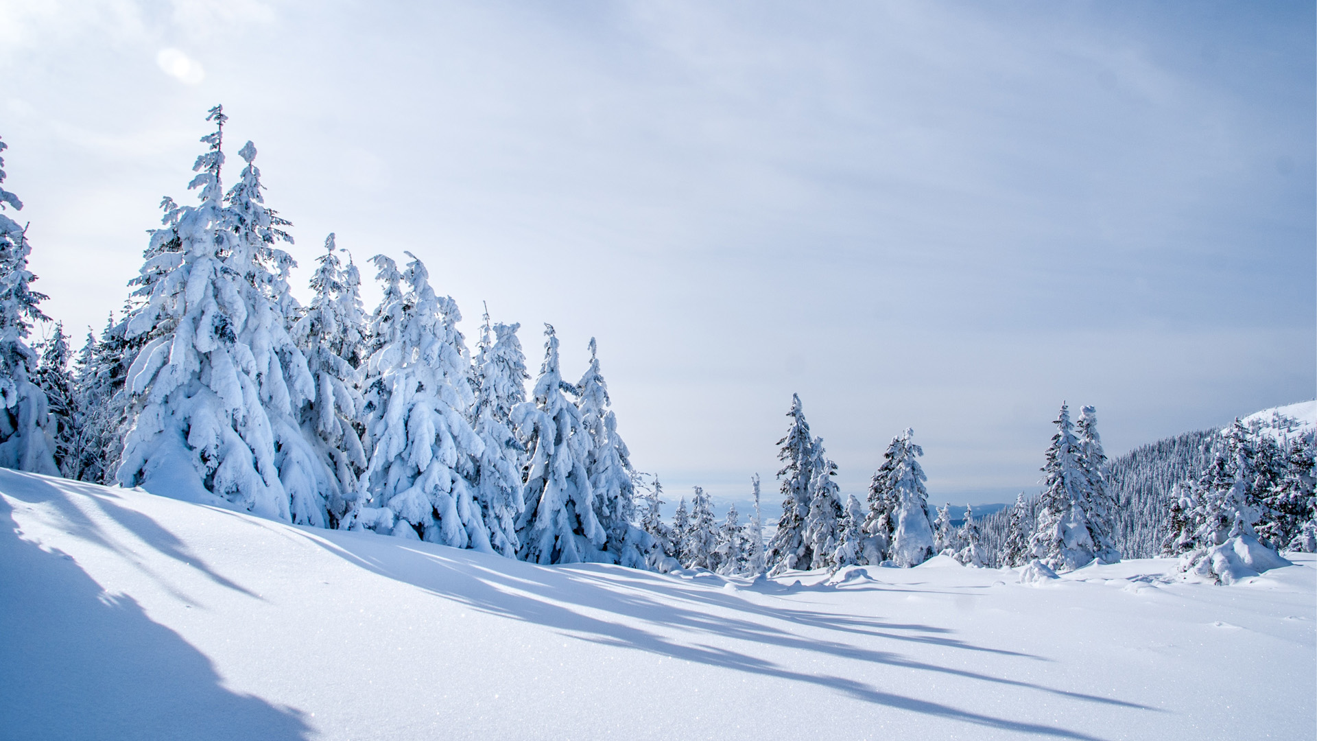
<path id="1" fill-rule="evenodd" d="M 586 469 L 593 438 L 581 411 L 562 396 L 564 389 L 574 389 L 562 381 L 558 339 L 551 324 L 544 326 L 544 336 L 533 401 L 512 409 L 512 422 L 531 451 L 518 555 L 535 563 L 610 562 L 605 548 L 608 533 L 595 517 L 595 493 Z"/>

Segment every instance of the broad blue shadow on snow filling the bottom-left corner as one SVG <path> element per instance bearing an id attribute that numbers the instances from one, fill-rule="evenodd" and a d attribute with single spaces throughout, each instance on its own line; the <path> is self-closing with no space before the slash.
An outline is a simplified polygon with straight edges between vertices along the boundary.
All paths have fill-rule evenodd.
<path id="1" fill-rule="evenodd" d="M 62 497 L 50 496 L 53 484 L 0 475 L 11 497 L 63 502 L 62 509 L 74 509 L 70 516 L 76 513 Z M 51 489 L 47 496 L 40 496 L 42 487 Z M 104 489 L 96 493 L 103 496 Z M 71 518 L 75 526 L 91 526 L 76 514 Z M 150 526 L 158 527 L 154 522 Z M 96 539 L 108 546 L 104 538 Z M 169 541 L 149 542 L 171 547 Z M 12 508 L 3 498 L 0 564 L 0 736 L 309 738 L 311 728 L 300 712 L 227 690 L 205 655 L 146 617 L 134 600 L 107 595 L 70 556 L 21 539 Z"/>

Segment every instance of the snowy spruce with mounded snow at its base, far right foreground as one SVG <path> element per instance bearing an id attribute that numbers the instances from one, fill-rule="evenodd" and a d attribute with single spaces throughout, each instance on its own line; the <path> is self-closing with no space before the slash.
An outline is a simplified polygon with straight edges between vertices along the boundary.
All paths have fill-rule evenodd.
<path id="1" fill-rule="evenodd" d="M 1188 519 L 1196 523 L 1195 550 L 1180 558 L 1180 570 L 1230 584 L 1268 568 L 1289 566 L 1272 547 L 1258 541 L 1260 496 L 1247 430 L 1235 419 L 1222 435 L 1205 485 Z"/>

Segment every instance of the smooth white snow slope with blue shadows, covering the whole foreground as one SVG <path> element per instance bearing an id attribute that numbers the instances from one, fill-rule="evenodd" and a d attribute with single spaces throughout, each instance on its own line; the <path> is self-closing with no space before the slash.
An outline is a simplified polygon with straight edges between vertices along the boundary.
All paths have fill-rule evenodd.
<path id="1" fill-rule="evenodd" d="M 1317 562 L 541 567 L 0 471 L 11 738 L 1312 738 Z"/>

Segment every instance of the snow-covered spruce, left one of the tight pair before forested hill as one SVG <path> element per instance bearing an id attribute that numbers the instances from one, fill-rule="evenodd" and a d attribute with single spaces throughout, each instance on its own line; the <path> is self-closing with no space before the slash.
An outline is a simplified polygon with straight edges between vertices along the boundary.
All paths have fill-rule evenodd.
<path id="1" fill-rule="evenodd" d="M 1080 460 L 1069 409 L 1063 403 L 1056 434 L 1043 465 L 1044 489 L 1038 500 L 1038 525 L 1029 547 L 1055 571 L 1072 571 L 1097 558 L 1089 530 L 1088 472 Z"/>

